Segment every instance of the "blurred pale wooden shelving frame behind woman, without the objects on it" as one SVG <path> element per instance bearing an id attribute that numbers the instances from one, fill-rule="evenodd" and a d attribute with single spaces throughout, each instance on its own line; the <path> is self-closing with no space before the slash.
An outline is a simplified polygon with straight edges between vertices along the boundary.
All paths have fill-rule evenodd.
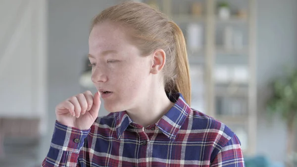
<path id="1" fill-rule="evenodd" d="M 138 0 L 140 1 L 140 0 Z M 192 105 L 201 108 L 201 112 L 212 116 L 223 123 L 227 124 L 235 133 L 238 134 L 243 144 L 243 150 L 245 155 L 253 155 L 255 153 L 256 144 L 256 0 L 243 0 L 240 8 L 245 9 L 247 14 L 244 17 L 240 17 L 236 13 L 230 15 L 228 19 L 222 19 L 217 13 L 217 2 L 220 0 L 142 0 L 142 2 L 151 4 L 154 3 L 160 10 L 166 13 L 173 21 L 175 21 L 183 30 L 187 40 L 189 35 L 185 27 L 189 24 L 200 24 L 203 27 L 203 44 L 198 50 L 188 49 L 188 56 L 190 62 L 190 68 L 201 69 L 202 76 L 195 78 L 192 76 L 192 89 L 193 98 Z M 231 11 L 236 9 L 239 3 L 237 0 L 227 0 L 231 6 Z M 200 15 L 191 14 L 191 3 L 200 2 L 202 4 L 202 12 Z M 233 5 L 234 4 L 234 5 Z M 184 6 L 183 6 L 184 5 Z M 189 12 L 177 13 L 180 9 L 189 9 Z M 235 27 L 237 29 L 242 28 L 246 30 L 245 36 L 243 36 L 245 44 L 238 49 L 226 49 L 226 47 L 219 42 L 220 28 L 222 27 Z M 191 35 L 191 34 L 190 34 Z M 224 56 L 222 56 L 224 55 Z M 244 61 L 237 62 L 236 60 L 244 58 Z M 224 84 L 218 83 L 215 75 L 216 65 L 221 65 L 220 59 L 224 59 L 226 66 L 240 65 L 247 67 L 246 82 L 236 82 L 231 79 Z M 243 62 L 246 62 L 243 64 Z M 236 73 L 236 71 L 233 73 Z M 195 74 L 199 72 L 193 72 Z M 229 73 L 231 76 L 233 73 Z M 228 75 L 228 76 L 229 76 Z M 238 76 L 239 74 L 237 74 Z M 201 83 L 197 81 L 202 80 Z M 199 85 L 199 86 L 198 86 Z M 197 88 L 199 87 L 199 88 Z M 199 89 L 199 90 L 196 90 Z M 202 91 L 201 91 L 202 90 Z M 199 93 L 199 95 L 197 95 Z M 201 98 L 202 97 L 202 98 Z M 238 111 L 240 114 L 226 114 L 223 109 L 220 109 L 218 105 L 218 99 L 240 99 L 245 103 L 244 111 Z M 203 103 L 198 99 L 202 99 Z M 233 102 L 227 103 L 227 106 L 236 106 Z M 238 104 L 237 104 L 238 105 Z M 195 108 L 195 107 L 193 107 Z M 196 109 L 196 108 L 195 108 Z M 234 108 L 236 109 L 236 108 Z M 243 107 L 242 107 L 243 109 Z M 218 112 L 223 113 L 218 113 Z M 230 110 L 231 111 L 231 110 Z M 235 110 L 236 111 L 236 110 Z M 234 111 L 232 111 L 234 112 Z"/>

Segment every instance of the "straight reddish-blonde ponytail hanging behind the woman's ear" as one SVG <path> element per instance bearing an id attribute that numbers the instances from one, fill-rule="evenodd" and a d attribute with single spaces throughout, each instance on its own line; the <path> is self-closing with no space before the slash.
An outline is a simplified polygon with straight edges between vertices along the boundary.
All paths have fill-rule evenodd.
<path id="1" fill-rule="evenodd" d="M 186 103 L 191 105 L 191 80 L 189 70 L 189 60 L 187 55 L 186 42 L 182 30 L 176 23 L 170 21 L 173 28 L 173 36 L 175 41 L 175 57 L 176 57 L 176 78 L 175 85 L 177 92 L 181 93 Z M 174 55 L 173 55 L 174 56 Z"/>

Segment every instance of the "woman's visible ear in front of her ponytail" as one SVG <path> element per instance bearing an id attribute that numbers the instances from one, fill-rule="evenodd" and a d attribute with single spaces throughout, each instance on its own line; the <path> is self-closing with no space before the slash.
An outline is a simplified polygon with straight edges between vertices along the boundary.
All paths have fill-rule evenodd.
<path id="1" fill-rule="evenodd" d="M 166 60 L 166 54 L 165 54 L 164 50 L 162 50 L 162 49 L 156 49 L 152 53 L 151 56 L 152 56 L 152 60 L 153 61 L 152 61 L 150 73 L 157 74 L 164 67 L 165 60 Z"/>

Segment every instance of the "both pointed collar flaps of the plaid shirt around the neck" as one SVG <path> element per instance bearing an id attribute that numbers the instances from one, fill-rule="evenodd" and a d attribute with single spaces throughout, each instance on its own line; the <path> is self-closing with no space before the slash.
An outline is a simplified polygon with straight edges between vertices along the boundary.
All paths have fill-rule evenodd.
<path id="1" fill-rule="evenodd" d="M 174 105 L 158 122 L 155 123 L 155 125 L 171 141 L 174 141 L 178 130 L 185 122 L 191 108 L 180 93 L 171 94 L 169 99 L 171 102 L 174 102 Z M 133 123 L 133 121 L 130 119 L 126 111 L 120 111 L 116 114 L 116 133 L 119 139 L 129 124 Z"/>

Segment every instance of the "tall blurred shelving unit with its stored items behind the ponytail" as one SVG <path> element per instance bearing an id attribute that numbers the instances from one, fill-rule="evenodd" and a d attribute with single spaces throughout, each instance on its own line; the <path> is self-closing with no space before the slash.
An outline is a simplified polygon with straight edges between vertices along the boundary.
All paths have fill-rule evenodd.
<path id="1" fill-rule="evenodd" d="M 192 105 L 194 109 L 230 127 L 240 138 L 243 152 L 252 155 L 256 150 L 254 143 L 257 130 L 256 117 L 252 117 L 256 116 L 256 96 L 250 97 L 257 91 L 254 85 L 254 67 L 257 60 L 254 15 L 256 1 L 247 0 L 246 4 L 230 1 L 232 7 L 228 19 L 222 19 L 217 14 L 216 0 L 198 1 L 203 1 L 201 15 L 192 15 L 193 6 L 190 3 L 193 0 L 179 3 L 166 0 L 163 3 L 166 8 L 164 11 L 168 11 L 169 17 L 179 25 L 185 35 L 194 90 Z M 246 11 L 237 12 L 242 15 L 235 13 L 242 9 Z M 197 31 L 191 31 L 195 26 L 199 26 Z M 224 38 L 229 37 L 229 32 L 225 29 L 228 26 L 232 28 L 231 49 L 224 45 L 224 42 L 229 41 Z M 196 38 L 201 41 L 195 41 Z M 193 41 L 197 44 L 194 45 Z M 196 49 L 198 44 L 201 47 Z M 191 48 L 194 49 L 190 50 Z"/>

